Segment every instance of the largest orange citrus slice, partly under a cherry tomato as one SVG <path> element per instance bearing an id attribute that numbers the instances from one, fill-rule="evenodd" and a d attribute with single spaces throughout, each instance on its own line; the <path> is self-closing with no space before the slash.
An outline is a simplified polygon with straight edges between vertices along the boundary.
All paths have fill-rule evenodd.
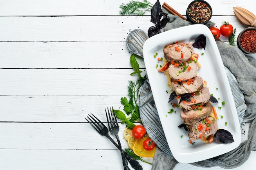
<path id="1" fill-rule="evenodd" d="M 135 143 L 133 144 L 133 152 L 135 153 L 135 155 L 139 156 L 139 157 L 154 157 L 155 155 L 155 149 L 156 147 L 154 147 L 152 150 L 145 150 L 143 148 L 143 142 L 149 139 L 149 137 L 143 137 L 142 139 L 136 140 Z"/>

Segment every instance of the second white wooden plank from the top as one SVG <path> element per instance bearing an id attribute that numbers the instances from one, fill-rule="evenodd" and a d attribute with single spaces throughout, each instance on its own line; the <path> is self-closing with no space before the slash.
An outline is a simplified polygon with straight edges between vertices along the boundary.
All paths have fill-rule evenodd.
<path id="1" fill-rule="evenodd" d="M 220 27 L 224 18 L 213 16 L 211 20 Z M 237 35 L 246 28 L 235 16 L 225 16 L 225 20 L 237 28 Z M 0 27 L 4 33 L 0 34 L 1 41 L 25 42 L 126 41 L 130 31 L 139 28 L 147 32 L 153 26 L 150 16 L 36 17 L 36 20 L 35 17 L 0 17 L 0 23 L 4 25 Z M 227 41 L 227 37 L 222 36 L 221 40 Z"/>

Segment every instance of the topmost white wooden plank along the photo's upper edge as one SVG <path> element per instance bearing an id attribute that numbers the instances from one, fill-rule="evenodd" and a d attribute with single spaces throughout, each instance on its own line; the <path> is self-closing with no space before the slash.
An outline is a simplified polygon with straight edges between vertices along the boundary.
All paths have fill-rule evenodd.
<path id="1" fill-rule="evenodd" d="M 119 15 L 119 6 L 130 0 L 8 0 L 0 2 L 0 16 L 74 16 L 74 15 Z M 148 0 L 155 4 L 155 0 Z M 159 0 L 161 4 L 166 2 L 182 15 L 186 15 L 186 9 L 192 0 L 182 0 L 178 3 L 171 0 Z M 256 2 L 253 0 L 207 0 L 213 9 L 213 15 L 234 15 L 232 7 L 243 7 L 256 14 Z M 13 5 L 15 4 L 15 5 Z M 29 7 L 28 7 L 29 4 Z M 147 12 L 146 15 L 150 15 Z"/>

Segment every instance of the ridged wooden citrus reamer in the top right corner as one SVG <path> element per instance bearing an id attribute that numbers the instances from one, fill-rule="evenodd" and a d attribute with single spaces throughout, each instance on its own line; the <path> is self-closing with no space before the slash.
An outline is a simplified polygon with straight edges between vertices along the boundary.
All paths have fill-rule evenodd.
<path id="1" fill-rule="evenodd" d="M 252 12 L 241 7 L 233 7 L 233 9 L 236 17 L 242 24 L 256 28 L 256 18 Z"/>

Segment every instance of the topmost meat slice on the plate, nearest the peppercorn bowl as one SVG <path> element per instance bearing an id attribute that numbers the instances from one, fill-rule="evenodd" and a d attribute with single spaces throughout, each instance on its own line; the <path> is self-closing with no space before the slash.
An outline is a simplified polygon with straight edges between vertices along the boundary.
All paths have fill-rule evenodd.
<path id="1" fill-rule="evenodd" d="M 164 57 L 167 61 L 188 61 L 194 53 L 192 43 L 172 44 L 164 48 Z"/>

